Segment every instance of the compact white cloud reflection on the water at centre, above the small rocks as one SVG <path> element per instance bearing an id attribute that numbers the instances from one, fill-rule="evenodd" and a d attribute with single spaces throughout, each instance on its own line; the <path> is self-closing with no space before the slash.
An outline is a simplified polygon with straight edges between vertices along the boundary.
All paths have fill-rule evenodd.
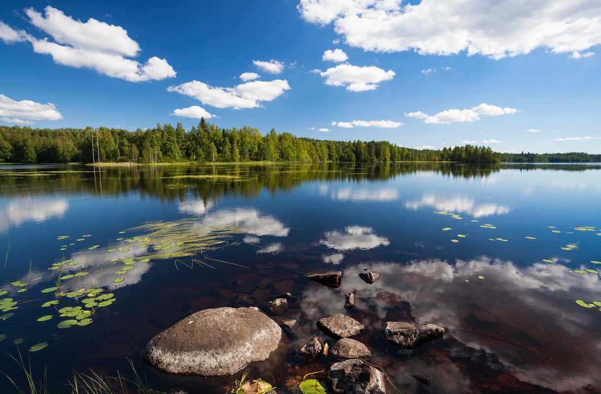
<path id="1" fill-rule="evenodd" d="M 348 226 L 343 231 L 328 231 L 319 243 L 336 250 L 373 249 L 380 245 L 388 246 L 390 241 L 373 233 L 371 227 Z"/>

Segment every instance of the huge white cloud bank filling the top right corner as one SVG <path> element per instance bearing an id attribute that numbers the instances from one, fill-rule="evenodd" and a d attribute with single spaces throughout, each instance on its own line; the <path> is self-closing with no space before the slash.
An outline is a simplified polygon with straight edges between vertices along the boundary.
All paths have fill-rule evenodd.
<path id="1" fill-rule="evenodd" d="M 422 55 L 466 51 L 499 59 L 548 48 L 576 53 L 601 44 L 601 3 L 591 0 L 301 0 L 301 16 L 334 22 L 350 46 Z"/>

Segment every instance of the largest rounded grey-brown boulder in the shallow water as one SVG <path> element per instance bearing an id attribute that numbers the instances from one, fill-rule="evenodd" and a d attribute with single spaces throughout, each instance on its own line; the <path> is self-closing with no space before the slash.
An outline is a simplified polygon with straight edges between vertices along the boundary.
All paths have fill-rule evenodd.
<path id="1" fill-rule="evenodd" d="M 148 342 L 142 357 L 172 374 L 231 375 L 278 348 L 282 329 L 255 308 L 196 312 Z"/>

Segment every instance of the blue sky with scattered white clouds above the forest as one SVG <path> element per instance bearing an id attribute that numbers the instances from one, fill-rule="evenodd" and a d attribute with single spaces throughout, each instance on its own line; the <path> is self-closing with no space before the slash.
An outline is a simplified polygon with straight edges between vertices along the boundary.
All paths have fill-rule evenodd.
<path id="1" fill-rule="evenodd" d="M 320 139 L 601 153 L 595 0 L 5 0 L 0 21 L 0 124 L 211 114 Z"/>

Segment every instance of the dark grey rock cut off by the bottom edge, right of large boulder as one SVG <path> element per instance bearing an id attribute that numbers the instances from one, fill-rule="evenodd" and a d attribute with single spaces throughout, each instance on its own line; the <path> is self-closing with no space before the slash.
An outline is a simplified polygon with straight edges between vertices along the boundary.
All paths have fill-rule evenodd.
<path id="1" fill-rule="evenodd" d="M 386 394 L 386 378 L 373 366 L 358 359 L 335 363 L 328 380 L 336 394 Z"/>

